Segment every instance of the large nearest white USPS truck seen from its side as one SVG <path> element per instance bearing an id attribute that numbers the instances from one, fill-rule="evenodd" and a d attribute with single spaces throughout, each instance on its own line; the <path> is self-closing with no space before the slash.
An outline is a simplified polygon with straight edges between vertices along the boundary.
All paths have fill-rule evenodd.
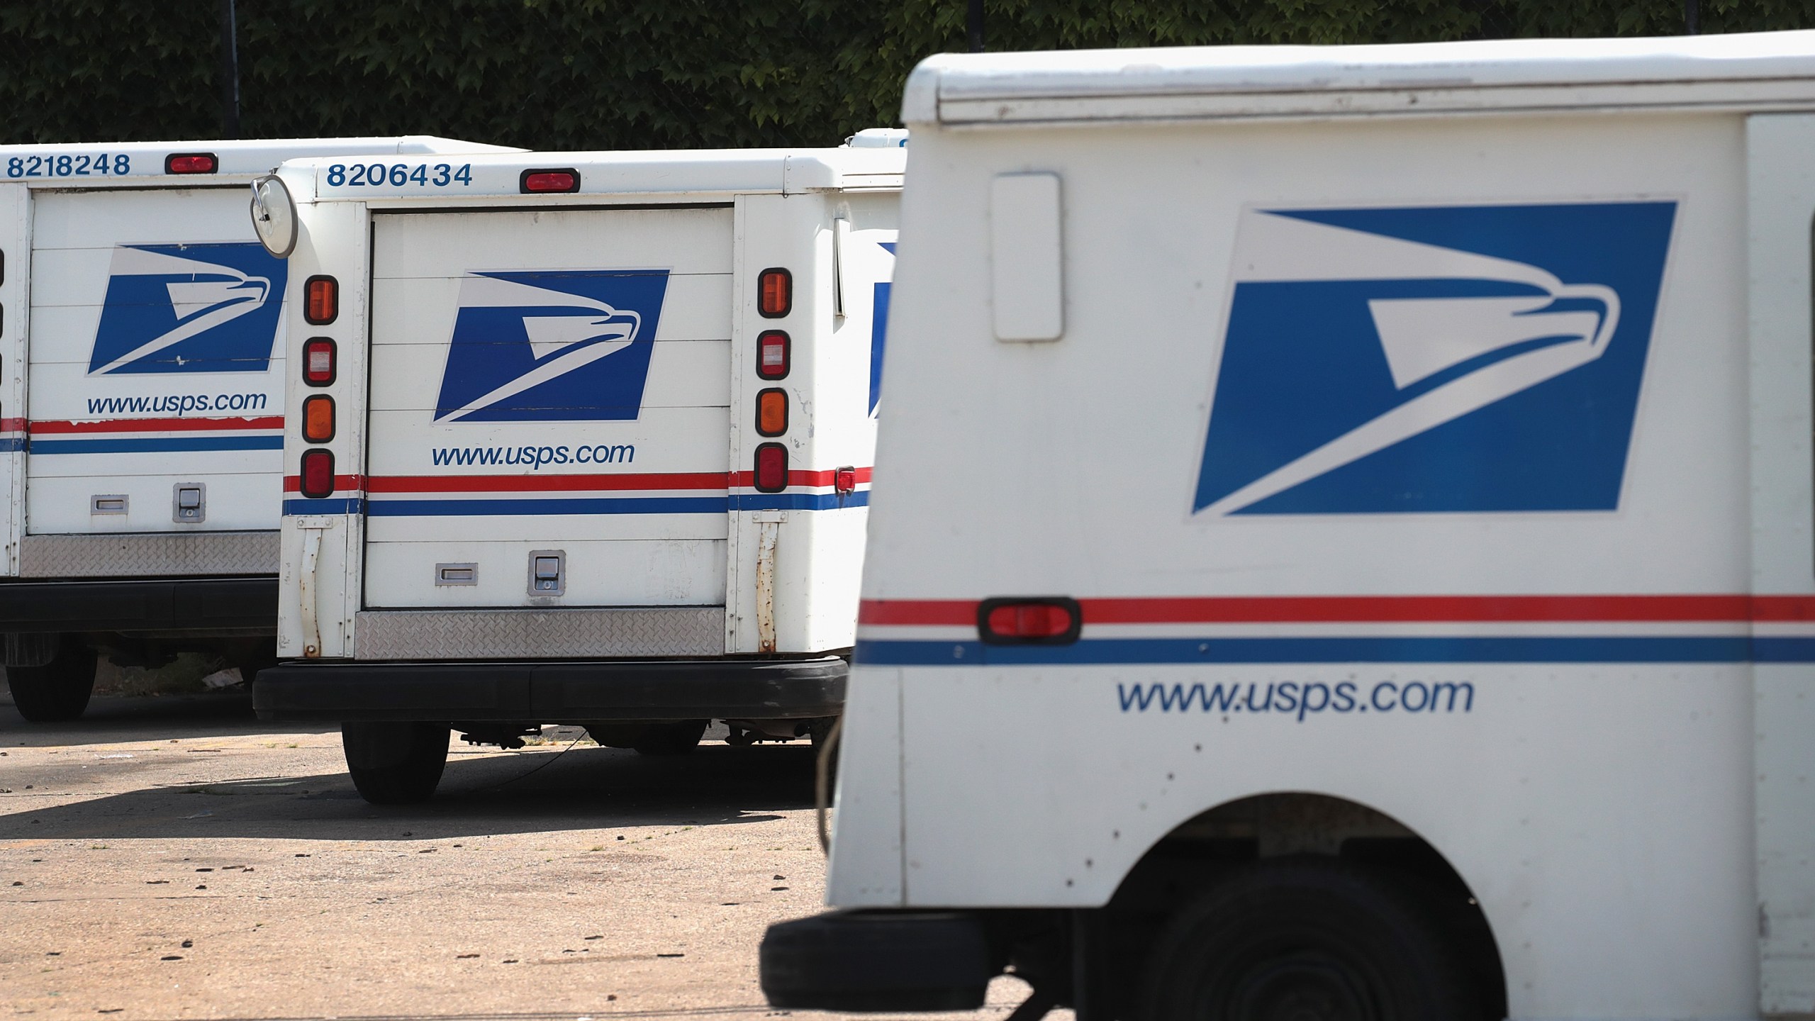
<path id="1" fill-rule="evenodd" d="M 1815 33 L 938 56 L 775 1006 L 1815 1014 Z"/>

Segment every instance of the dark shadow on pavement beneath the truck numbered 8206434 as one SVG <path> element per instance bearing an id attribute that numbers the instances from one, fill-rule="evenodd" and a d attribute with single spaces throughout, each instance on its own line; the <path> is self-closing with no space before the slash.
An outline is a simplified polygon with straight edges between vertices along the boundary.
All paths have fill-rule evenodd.
<path id="1" fill-rule="evenodd" d="M 592 745 L 463 754 L 456 745 L 439 790 L 423 805 L 367 805 L 345 772 L 236 776 L 147 783 L 42 808 L 25 808 L 9 798 L 13 810 L 0 816 L 0 839 L 421 841 L 617 827 L 717 827 L 771 821 L 780 810 L 811 808 L 813 768 L 815 752 L 806 743 L 702 745 L 692 754 L 661 758 Z M 116 790 L 125 783 L 131 778 L 107 778 L 107 787 Z M 40 790 L 60 796 L 65 785 L 47 779 Z"/>

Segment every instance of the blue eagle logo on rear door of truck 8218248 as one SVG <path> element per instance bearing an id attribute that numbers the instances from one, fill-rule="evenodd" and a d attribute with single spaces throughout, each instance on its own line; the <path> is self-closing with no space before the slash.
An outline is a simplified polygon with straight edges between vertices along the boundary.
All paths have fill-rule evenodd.
<path id="1" fill-rule="evenodd" d="M 118 245 L 89 374 L 263 372 L 283 283 L 256 242 Z"/>

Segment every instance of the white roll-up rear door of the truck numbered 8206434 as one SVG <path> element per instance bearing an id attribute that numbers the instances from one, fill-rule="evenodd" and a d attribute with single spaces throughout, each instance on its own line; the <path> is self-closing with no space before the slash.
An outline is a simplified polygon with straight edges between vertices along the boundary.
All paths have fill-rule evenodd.
<path id="1" fill-rule="evenodd" d="M 733 211 L 374 214 L 365 605 L 724 605 Z"/>

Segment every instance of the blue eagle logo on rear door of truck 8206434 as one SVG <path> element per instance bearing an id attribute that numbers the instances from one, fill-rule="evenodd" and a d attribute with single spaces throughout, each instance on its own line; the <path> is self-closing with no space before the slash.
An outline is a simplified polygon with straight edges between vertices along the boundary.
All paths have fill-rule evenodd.
<path id="1" fill-rule="evenodd" d="M 666 269 L 474 273 L 436 421 L 637 418 Z"/>

